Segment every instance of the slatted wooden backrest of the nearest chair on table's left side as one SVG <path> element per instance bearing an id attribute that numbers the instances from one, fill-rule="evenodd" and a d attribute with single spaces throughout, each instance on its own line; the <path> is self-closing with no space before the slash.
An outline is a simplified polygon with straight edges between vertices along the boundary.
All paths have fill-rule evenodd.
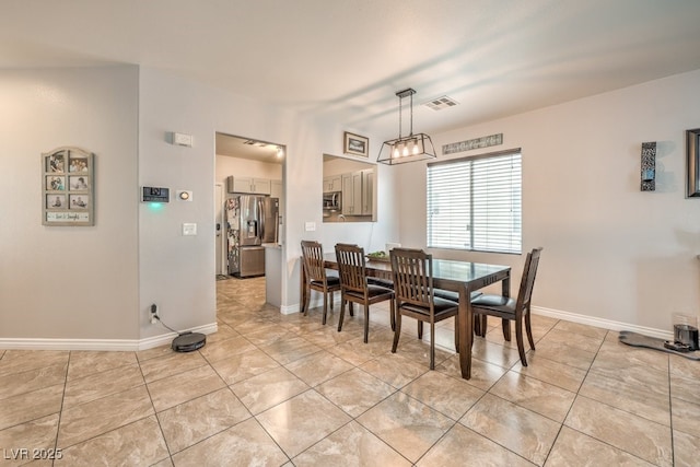
<path id="1" fill-rule="evenodd" d="M 422 249 L 393 248 L 389 252 L 396 300 L 418 306 L 433 304 L 433 255 Z"/>

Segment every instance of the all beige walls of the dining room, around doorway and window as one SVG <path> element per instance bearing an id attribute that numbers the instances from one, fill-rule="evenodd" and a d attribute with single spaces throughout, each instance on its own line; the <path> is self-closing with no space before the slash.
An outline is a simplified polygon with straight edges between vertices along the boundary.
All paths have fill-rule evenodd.
<path id="1" fill-rule="evenodd" d="M 698 313 L 700 200 L 685 199 L 685 130 L 700 126 L 689 96 L 700 71 L 511 118 L 433 135 L 435 145 L 503 132 L 523 148 L 524 245 L 545 247 L 535 303 L 542 313 L 668 330 Z M 324 224 L 323 154 L 342 131 L 167 72 L 137 67 L 0 71 L 0 345 L 122 348 L 215 323 L 214 133 L 287 147 L 282 308 L 299 305 L 299 243 L 425 244 L 424 165 L 380 165 L 378 222 Z M 166 132 L 194 136 L 175 147 Z M 380 139 L 369 135 L 370 153 Z M 656 192 L 639 191 L 640 144 L 658 141 Z M 40 222 L 42 152 L 94 152 L 96 224 Z M 477 153 L 483 151 L 472 151 Z M 463 155 L 463 154 L 458 154 Z M 141 185 L 190 189 L 194 201 L 151 210 Z M 198 224 L 196 237 L 182 224 Z M 315 231 L 306 231 L 315 222 Z M 510 264 L 522 257 L 436 250 Z M 516 277 L 520 275 L 516 275 Z"/>

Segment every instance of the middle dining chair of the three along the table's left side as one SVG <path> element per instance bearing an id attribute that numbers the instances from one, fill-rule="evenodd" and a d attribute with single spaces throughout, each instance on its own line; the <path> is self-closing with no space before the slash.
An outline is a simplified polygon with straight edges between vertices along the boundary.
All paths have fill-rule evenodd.
<path id="1" fill-rule="evenodd" d="M 346 303 L 352 311 L 352 303 L 364 306 L 364 343 L 368 343 L 370 335 L 370 305 L 390 301 L 389 320 L 392 330 L 395 329 L 394 291 L 382 285 L 369 282 L 364 248 L 358 245 L 339 243 L 336 245 L 336 260 L 340 277 L 340 318 L 338 331 L 342 329 L 342 320 L 346 313 Z"/>

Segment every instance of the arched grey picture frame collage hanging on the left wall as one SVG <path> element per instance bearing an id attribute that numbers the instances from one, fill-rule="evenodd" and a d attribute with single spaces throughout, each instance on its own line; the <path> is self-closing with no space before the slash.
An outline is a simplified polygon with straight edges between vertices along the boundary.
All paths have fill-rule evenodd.
<path id="1" fill-rule="evenodd" d="M 42 154 L 42 223 L 94 225 L 94 154 L 58 148 Z"/>

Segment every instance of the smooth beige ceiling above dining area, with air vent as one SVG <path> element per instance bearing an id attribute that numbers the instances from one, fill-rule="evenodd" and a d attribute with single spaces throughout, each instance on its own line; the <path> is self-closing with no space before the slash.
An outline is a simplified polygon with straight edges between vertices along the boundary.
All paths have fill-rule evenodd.
<path id="1" fill-rule="evenodd" d="M 385 140 L 406 87 L 432 133 L 700 69 L 699 19 L 698 0 L 3 0 L 0 68 L 138 63 Z"/>

